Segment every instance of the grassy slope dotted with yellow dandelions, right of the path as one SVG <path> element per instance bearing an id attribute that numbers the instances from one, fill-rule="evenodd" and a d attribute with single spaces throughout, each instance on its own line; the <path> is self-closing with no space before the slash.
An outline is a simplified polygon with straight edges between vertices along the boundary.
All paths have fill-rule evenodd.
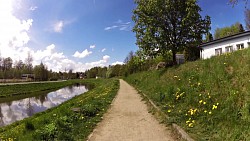
<path id="1" fill-rule="evenodd" d="M 197 140 L 250 140 L 250 49 L 126 80 Z"/>

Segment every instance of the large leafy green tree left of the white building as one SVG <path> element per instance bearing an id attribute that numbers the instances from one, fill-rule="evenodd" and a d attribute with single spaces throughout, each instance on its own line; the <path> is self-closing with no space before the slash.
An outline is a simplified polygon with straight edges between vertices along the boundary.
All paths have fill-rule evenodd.
<path id="1" fill-rule="evenodd" d="M 202 42 L 202 35 L 210 29 L 210 17 L 203 19 L 196 0 L 135 0 L 134 10 L 137 45 L 145 55 L 166 56 L 190 44 Z"/>

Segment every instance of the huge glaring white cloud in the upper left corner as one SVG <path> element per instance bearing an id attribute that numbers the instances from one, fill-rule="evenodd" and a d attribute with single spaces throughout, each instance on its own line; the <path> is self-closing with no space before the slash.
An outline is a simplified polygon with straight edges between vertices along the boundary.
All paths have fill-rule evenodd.
<path id="1" fill-rule="evenodd" d="M 29 30 L 33 19 L 20 20 L 12 13 L 12 1 L 0 0 L 0 53 L 3 57 L 17 57 L 17 50 L 22 49 L 30 40 Z"/>

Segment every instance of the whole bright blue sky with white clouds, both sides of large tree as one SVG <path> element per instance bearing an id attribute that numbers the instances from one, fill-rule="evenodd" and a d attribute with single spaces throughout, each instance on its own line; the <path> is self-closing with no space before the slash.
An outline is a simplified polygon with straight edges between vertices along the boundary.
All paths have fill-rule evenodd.
<path id="1" fill-rule="evenodd" d="M 245 26 L 244 2 L 199 0 L 201 15 L 216 28 L 240 22 Z M 85 71 L 122 64 L 136 51 L 131 19 L 133 0 L 0 0 L 0 56 L 14 63 L 33 57 L 53 71 Z"/>

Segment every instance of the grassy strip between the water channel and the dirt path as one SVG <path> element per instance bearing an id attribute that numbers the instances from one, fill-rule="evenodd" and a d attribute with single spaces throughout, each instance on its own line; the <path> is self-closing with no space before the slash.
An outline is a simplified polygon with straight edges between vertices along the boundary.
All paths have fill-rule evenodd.
<path id="1" fill-rule="evenodd" d="M 95 87 L 58 107 L 2 127 L 1 139 L 86 140 L 117 94 L 119 81 L 93 79 L 83 83 Z"/>

